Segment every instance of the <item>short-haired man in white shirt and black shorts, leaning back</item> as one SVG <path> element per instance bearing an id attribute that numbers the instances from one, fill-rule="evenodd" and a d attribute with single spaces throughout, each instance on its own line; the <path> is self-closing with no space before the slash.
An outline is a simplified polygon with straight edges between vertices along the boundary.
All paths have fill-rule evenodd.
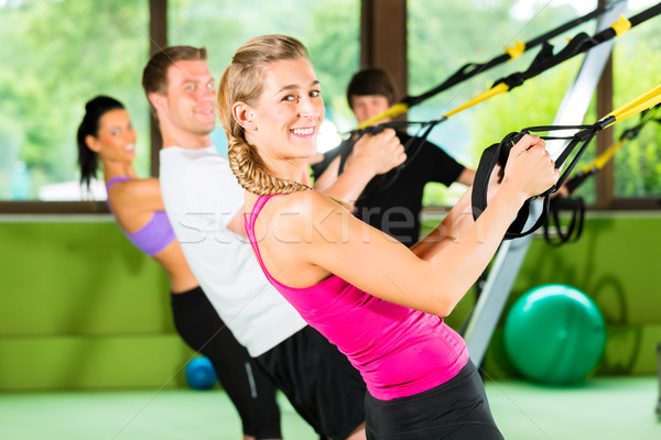
<path id="1" fill-rule="evenodd" d="M 143 87 L 163 138 L 165 210 L 203 290 L 317 433 L 364 439 L 360 375 L 269 284 L 245 237 L 243 189 L 212 144 L 216 92 L 206 51 L 175 46 L 155 54 L 144 69 Z M 401 164 L 403 148 L 392 138 L 366 139 L 326 193 L 354 201 L 376 174 Z"/>

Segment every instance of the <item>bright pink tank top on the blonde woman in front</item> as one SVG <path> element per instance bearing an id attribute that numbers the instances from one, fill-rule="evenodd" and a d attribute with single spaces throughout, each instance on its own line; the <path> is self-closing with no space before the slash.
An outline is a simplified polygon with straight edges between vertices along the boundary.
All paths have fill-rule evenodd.
<path id="1" fill-rule="evenodd" d="M 273 196 L 259 197 L 246 232 L 269 282 L 303 319 L 337 345 L 381 400 L 438 386 L 468 362 L 466 343 L 443 319 L 371 296 L 336 275 L 296 288 L 269 274 L 254 239 L 254 221 Z"/>

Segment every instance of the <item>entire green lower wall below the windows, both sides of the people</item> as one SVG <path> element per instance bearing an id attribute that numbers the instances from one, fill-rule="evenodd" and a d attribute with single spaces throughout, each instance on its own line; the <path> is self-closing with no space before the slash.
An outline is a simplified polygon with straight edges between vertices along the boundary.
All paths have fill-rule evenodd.
<path id="1" fill-rule="evenodd" d="M 1 218 L 0 218 L 1 219 Z M 661 215 L 588 213 L 577 243 L 534 239 L 508 305 L 564 283 L 589 295 L 608 324 L 595 374 L 657 374 L 661 342 Z M 192 351 L 172 326 L 166 274 L 107 216 L 0 222 L 0 392 L 185 386 Z M 448 323 L 474 304 L 467 295 Z M 501 319 L 485 367 L 517 375 Z"/>

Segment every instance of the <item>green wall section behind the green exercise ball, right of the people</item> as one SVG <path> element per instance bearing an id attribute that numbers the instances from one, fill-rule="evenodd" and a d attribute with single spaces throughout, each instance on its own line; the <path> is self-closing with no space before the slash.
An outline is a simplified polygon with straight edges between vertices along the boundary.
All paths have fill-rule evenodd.
<path id="1" fill-rule="evenodd" d="M 533 239 L 485 360 L 490 376 L 518 376 L 503 349 L 507 310 L 529 289 L 552 283 L 578 288 L 604 315 L 606 351 L 594 374 L 657 374 L 657 344 L 661 343 L 661 213 L 588 212 L 586 217 L 583 234 L 575 243 L 552 248 L 541 234 Z M 456 327 L 463 322 L 474 304 L 472 294 L 448 323 Z"/>

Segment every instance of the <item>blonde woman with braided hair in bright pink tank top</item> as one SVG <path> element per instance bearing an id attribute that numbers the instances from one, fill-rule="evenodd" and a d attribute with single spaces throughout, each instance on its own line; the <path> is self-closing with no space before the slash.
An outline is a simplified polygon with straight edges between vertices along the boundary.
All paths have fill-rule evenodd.
<path id="1" fill-rule="evenodd" d="M 467 191 L 408 249 L 312 190 L 321 89 L 305 47 L 284 35 L 247 42 L 220 79 L 219 119 L 264 274 L 360 371 L 368 439 L 502 439 L 466 344 L 442 317 L 485 270 L 523 201 L 556 182 L 544 142 L 527 135 L 512 148 L 477 221 Z"/>

